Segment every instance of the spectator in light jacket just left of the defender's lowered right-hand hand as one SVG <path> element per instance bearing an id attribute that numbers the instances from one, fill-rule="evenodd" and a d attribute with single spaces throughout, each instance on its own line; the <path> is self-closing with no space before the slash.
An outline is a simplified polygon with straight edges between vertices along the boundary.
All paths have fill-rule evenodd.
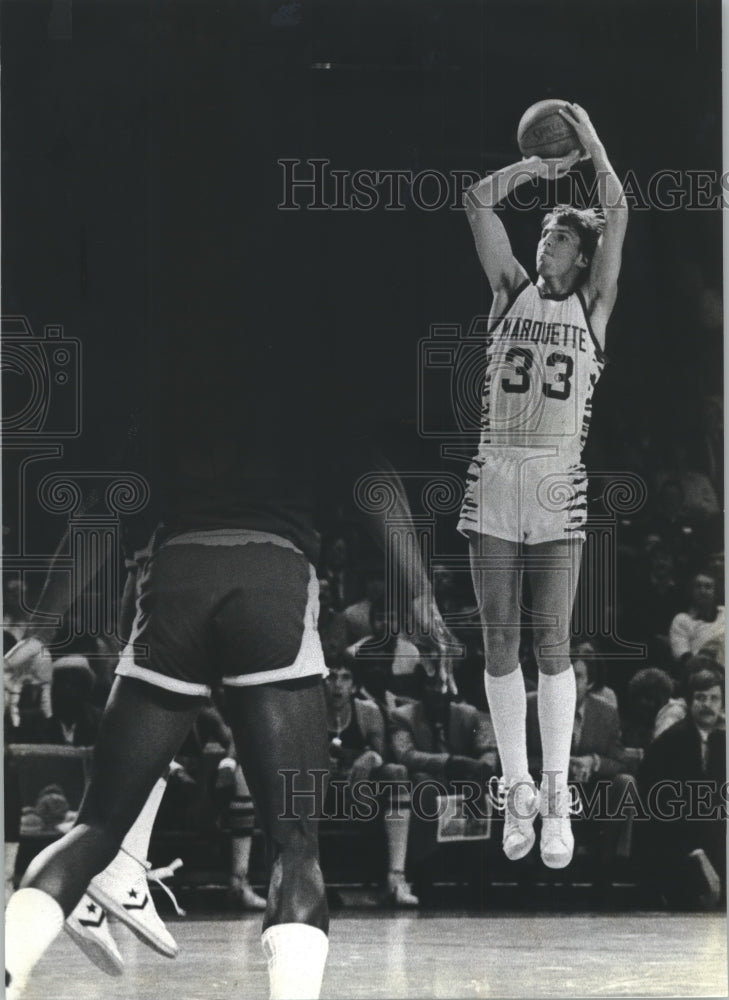
<path id="1" fill-rule="evenodd" d="M 361 693 L 387 711 L 414 700 L 420 691 L 415 676 L 420 653 L 408 639 L 395 635 L 392 625 L 384 598 L 373 602 L 370 634 L 350 646 L 345 656 Z"/>

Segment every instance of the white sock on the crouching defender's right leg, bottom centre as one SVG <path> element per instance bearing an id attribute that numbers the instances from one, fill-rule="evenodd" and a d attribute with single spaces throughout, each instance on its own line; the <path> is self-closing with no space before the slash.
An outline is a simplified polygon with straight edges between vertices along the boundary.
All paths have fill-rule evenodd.
<path id="1" fill-rule="evenodd" d="M 317 1000 L 329 938 L 310 924 L 274 924 L 261 937 L 270 1000 Z"/>

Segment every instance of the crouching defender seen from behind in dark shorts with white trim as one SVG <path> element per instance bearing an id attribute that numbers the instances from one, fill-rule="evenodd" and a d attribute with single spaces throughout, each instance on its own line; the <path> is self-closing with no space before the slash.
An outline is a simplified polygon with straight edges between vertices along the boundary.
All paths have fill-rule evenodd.
<path id="1" fill-rule="evenodd" d="M 296 446 L 271 450 L 271 424 L 261 443 L 240 433 L 229 410 L 224 444 L 238 448 L 245 460 L 226 464 L 214 477 L 201 465 L 195 475 L 190 449 L 208 447 L 205 412 L 196 414 L 198 436 L 178 439 L 184 465 L 171 448 L 164 449 L 172 456 L 168 474 L 176 488 L 144 564 L 130 643 L 117 668 L 76 824 L 33 860 L 9 902 L 9 1000 L 22 995 L 89 883 L 89 894 L 98 899 L 98 874 L 117 855 L 218 680 L 226 687 L 238 757 L 267 845 L 271 881 L 262 943 L 270 996 L 319 995 L 328 913 L 313 772 L 323 774 L 329 759 L 312 565 L 318 536 L 308 495 L 316 466 L 305 447 L 315 438 L 297 436 L 299 420 L 296 429 L 292 423 L 281 428 L 286 443 Z M 218 414 L 212 417 L 208 430 L 220 437 Z M 326 449 L 323 455 L 326 460 Z M 408 592 L 429 595 L 419 558 L 403 560 Z M 434 609 L 432 632 L 436 642 L 447 642 Z M 282 772 L 291 768 L 299 794 L 287 800 Z M 110 902 L 101 899 L 104 906 Z"/>

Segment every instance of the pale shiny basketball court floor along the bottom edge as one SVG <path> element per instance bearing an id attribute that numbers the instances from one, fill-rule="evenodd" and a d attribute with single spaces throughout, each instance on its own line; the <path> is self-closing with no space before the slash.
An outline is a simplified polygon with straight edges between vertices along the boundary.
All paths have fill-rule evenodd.
<path id="1" fill-rule="evenodd" d="M 244 1000 L 268 996 L 260 916 L 171 921 L 161 958 L 113 925 L 126 970 L 112 979 L 62 934 L 27 1000 Z M 338 912 L 323 998 L 725 997 L 717 914 Z"/>

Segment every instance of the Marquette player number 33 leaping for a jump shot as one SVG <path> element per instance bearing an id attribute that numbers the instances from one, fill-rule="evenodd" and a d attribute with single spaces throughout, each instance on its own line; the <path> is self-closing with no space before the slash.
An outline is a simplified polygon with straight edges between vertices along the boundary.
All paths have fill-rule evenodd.
<path id="1" fill-rule="evenodd" d="M 605 363 L 627 225 L 622 186 L 586 112 L 561 112 L 583 152 L 533 156 L 475 184 L 465 199 L 493 304 L 481 438 L 469 468 L 459 530 L 469 539 L 484 631 L 485 686 L 501 757 L 503 848 L 524 857 L 542 815 L 541 856 L 551 868 L 574 849 L 567 774 L 575 716 L 570 619 L 586 516 L 581 452 L 592 394 Z M 598 178 L 601 212 L 558 206 L 544 219 L 537 280 L 514 258 L 494 211 L 518 185 L 565 174 L 584 155 Z M 518 662 L 522 575 L 529 582 L 539 666 L 541 789 L 529 775 L 526 694 Z"/>

